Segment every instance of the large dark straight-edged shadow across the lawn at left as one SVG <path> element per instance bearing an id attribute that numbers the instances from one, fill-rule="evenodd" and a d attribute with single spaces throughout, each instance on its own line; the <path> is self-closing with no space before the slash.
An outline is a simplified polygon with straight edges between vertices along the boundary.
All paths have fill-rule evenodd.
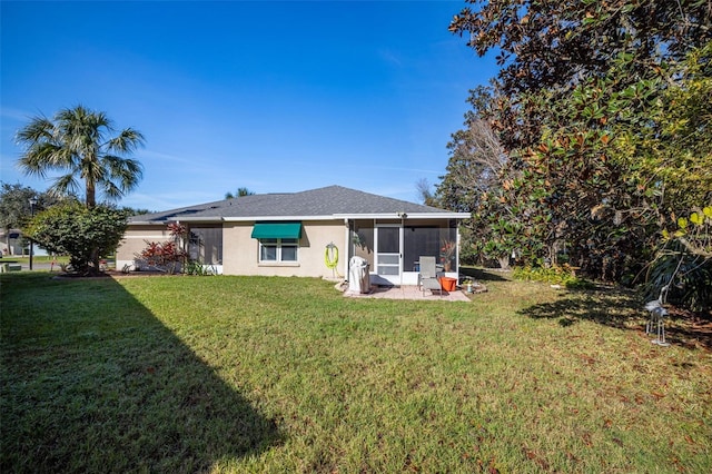
<path id="1" fill-rule="evenodd" d="M 2 472 L 197 472 L 281 443 L 111 278 L 1 284 Z"/>

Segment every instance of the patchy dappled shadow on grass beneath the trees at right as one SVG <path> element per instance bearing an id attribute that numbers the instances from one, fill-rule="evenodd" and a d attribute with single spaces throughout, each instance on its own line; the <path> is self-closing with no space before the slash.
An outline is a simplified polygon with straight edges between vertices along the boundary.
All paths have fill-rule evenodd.
<path id="1" fill-rule="evenodd" d="M 632 292 L 614 288 L 568 290 L 556 302 L 533 305 L 522 309 L 520 314 L 532 318 L 558 319 L 562 326 L 590 320 L 627 330 L 645 330 L 650 316 Z M 672 344 L 710 350 L 712 325 L 701 324 L 690 315 L 671 310 L 665 320 L 665 339 Z"/>

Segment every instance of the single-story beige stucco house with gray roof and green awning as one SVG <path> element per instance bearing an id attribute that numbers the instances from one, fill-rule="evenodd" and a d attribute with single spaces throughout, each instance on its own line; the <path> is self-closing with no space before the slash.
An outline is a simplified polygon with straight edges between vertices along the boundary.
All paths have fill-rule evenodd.
<path id="1" fill-rule="evenodd" d="M 359 256 L 372 282 L 415 285 L 421 256 L 457 276 L 457 224 L 468 217 L 342 186 L 241 196 L 131 217 L 117 268 L 136 265 L 148 243 L 169 240 L 167 225 L 180 223 L 190 257 L 220 274 L 344 279 Z"/>

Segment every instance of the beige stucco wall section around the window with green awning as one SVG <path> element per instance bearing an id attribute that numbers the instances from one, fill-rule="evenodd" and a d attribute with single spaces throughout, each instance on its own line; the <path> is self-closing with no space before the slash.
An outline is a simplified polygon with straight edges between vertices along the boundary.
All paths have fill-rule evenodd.
<path id="1" fill-rule="evenodd" d="M 253 223 L 225 223 L 222 234 L 222 274 L 224 275 L 266 275 L 266 276 L 309 276 L 342 277 L 346 275 L 345 263 L 348 259 L 344 248 L 347 227 L 343 220 L 301 223 L 298 261 L 259 263 L 259 243 L 250 237 Z M 326 246 L 334 243 L 338 247 L 339 259 L 336 273 L 324 263 Z"/>

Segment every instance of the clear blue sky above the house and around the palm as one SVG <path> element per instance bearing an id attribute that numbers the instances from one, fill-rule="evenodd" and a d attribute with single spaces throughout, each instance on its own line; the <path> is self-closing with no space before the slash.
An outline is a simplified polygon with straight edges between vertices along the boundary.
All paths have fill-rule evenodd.
<path id="1" fill-rule="evenodd" d="M 418 201 L 468 90 L 496 73 L 447 26 L 464 1 L 0 3 L 0 180 L 14 134 L 81 103 L 147 139 L 121 205 L 342 185 Z"/>

